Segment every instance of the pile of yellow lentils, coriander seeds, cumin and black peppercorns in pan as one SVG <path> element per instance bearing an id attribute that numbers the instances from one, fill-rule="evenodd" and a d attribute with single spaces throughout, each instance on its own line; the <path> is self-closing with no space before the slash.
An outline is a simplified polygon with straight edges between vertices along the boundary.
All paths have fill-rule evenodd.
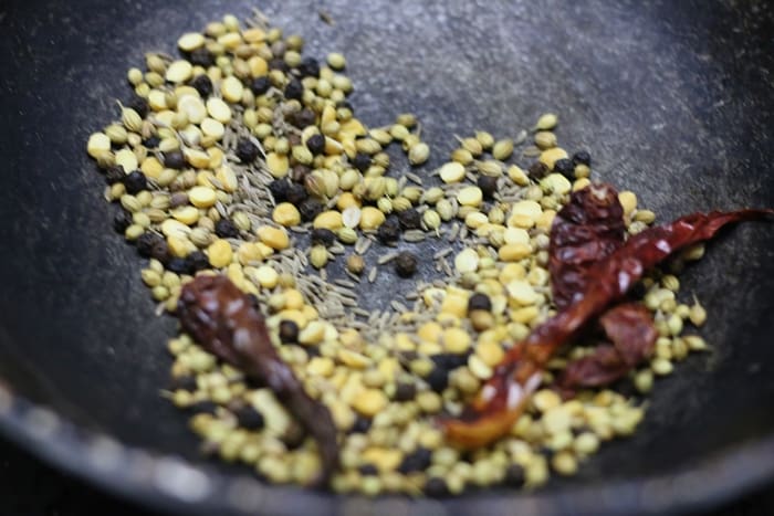
<path id="1" fill-rule="evenodd" d="M 396 173 L 390 145 L 410 167 L 432 150 L 411 114 L 380 127 L 356 118 L 342 54 L 304 56 L 301 36 L 260 13 L 245 23 L 227 15 L 177 44 L 179 56 L 148 53 L 128 71 L 133 97 L 87 151 L 107 182 L 114 228 L 147 260 L 142 280 L 159 313 L 181 317 L 167 394 L 192 411 L 208 453 L 269 482 L 330 480 L 336 492 L 370 496 L 535 487 L 631 434 L 656 378 L 708 348 L 694 331 L 707 318 L 695 297 L 678 296 L 673 274 L 640 272 L 637 304 L 600 319 L 611 350 L 584 341 L 532 357 L 517 378 L 531 396 L 512 410 L 501 387 L 514 385 L 509 365 L 522 370 L 529 355 L 514 344 L 536 339 L 536 328 L 554 328 L 546 339 L 558 341 L 568 329 L 556 320 L 588 294 L 592 262 L 617 263 L 648 232 L 671 230 L 647 229 L 656 215 L 635 193 L 587 188 L 592 158 L 558 146 L 554 114 L 538 118 L 531 143 L 526 130 L 471 131 L 431 173 Z M 582 192 L 613 208 L 567 207 L 588 201 Z M 596 217 L 592 233 L 554 223 L 573 209 Z M 704 228 L 705 239 L 726 221 L 681 223 Z M 600 250 L 584 256 L 577 238 L 589 234 Z M 674 246 L 688 243 L 680 262 L 703 255 L 699 239 Z M 557 246 L 578 260 L 557 262 Z M 380 275 L 416 284 L 367 310 L 360 294 Z M 222 333 L 216 314 L 197 318 L 208 296 L 221 307 L 238 299 L 229 327 L 244 331 Z M 597 297 L 595 314 L 615 296 Z M 637 349 L 619 346 L 620 320 L 646 328 Z M 245 335 L 249 347 L 236 346 Z M 272 381 L 273 366 L 282 381 Z M 638 394 L 616 391 L 613 379 Z M 449 431 L 503 411 L 472 449 Z"/>

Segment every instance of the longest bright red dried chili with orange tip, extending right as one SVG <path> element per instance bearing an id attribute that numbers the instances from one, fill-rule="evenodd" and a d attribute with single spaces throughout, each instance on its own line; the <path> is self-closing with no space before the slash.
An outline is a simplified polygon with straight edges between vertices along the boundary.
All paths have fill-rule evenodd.
<path id="1" fill-rule="evenodd" d="M 620 299 L 648 268 L 676 251 L 709 240 L 725 224 L 760 219 L 774 210 L 694 213 L 631 236 L 598 262 L 589 282 L 573 303 L 514 345 L 493 377 L 458 419 L 442 419 L 447 436 L 460 445 L 477 447 L 505 434 L 521 415 L 553 354 L 611 302 Z"/>

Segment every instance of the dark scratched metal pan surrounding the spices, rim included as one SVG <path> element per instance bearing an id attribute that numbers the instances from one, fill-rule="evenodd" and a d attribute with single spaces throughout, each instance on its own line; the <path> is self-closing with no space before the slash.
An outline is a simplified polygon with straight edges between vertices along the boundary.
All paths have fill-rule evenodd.
<path id="1" fill-rule="evenodd" d="M 588 149 L 597 178 L 636 191 L 663 221 L 774 206 L 774 13 L 765 1 L 736 3 L 260 7 L 303 34 L 308 54 L 346 52 L 352 103 L 367 123 L 416 113 L 433 148 L 427 169 L 448 155 L 453 134 L 514 135 L 553 110 L 561 143 Z M 113 207 L 101 199 L 103 183 L 84 149 L 87 135 L 115 116 L 114 99 L 127 97 L 125 71 L 144 52 L 174 51 L 177 34 L 252 6 L 0 7 L 4 433 L 96 484 L 186 514 L 655 514 L 717 503 L 771 477 L 774 227 L 763 223 L 725 232 L 682 276 L 686 295 L 695 292 L 708 308 L 703 335 L 714 351 L 659 381 L 637 435 L 606 444 L 572 481 L 530 495 L 491 489 L 453 502 L 366 502 L 262 487 L 245 480 L 247 470 L 202 460 L 184 414 L 158 396 L 174 322 L 153 316 L 142 263 L 111 231 Z M 321 8 L 334 25 L 318 19 Z M 394 286 L 384 274 L 367 303 L 386 305 Z"/>

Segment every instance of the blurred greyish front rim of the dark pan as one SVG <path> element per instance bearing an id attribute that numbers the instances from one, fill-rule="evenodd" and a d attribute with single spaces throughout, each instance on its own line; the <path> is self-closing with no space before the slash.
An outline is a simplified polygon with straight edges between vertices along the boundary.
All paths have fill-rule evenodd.
<path id="1" fill-rule="evenodd" d="M 0 434 L 86 484 L 150 509 L 180 514 L 297 514 L 300 507 L 308 512 L 313 503 L 322 503 L 313 514 L 472 514 L 485 504 L 489 514 L 665 515 L 726 502 L 774 478 L 774 461 L 760 460 L 774 456 L 774 436 L 764 436 L 674 472 L 552 492 L 472 493 L 442 499 L 344 496 L 266 485 L 247 474 L 232 476 L 215 466 L 124 444 L 13 394 L 1 377 Z M 191 483 L 198 492 L 189 489 Z M 466 507 L 468 503 L 474 505 Z"/>

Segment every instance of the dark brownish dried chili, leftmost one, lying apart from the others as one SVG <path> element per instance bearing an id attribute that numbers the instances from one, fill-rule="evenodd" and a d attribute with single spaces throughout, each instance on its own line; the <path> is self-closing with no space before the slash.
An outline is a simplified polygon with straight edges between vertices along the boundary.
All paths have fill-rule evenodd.
<path id="1" fill-rule="evenodd" d="M 224 276 L 197 276 L 180 293 L 178 315 L 186 333 L 247 376 L 268 386 L 317 441 L 322 471 L 316 485 L 327 483 L 338 465 L 336 427 L 328 410 L 312 399 L 278 356 L 263 316 L 251 299 Z"/>

